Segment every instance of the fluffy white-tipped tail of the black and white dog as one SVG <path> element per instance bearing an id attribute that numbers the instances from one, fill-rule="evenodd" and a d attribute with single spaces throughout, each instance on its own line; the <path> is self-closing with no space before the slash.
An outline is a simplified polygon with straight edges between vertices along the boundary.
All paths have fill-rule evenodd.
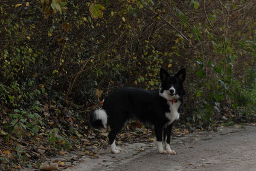
<path id="1" fill-rule="evenodd" d="M 103 109 L 94 109 L 90 114 L 90 123 L 94 127 L 104 126 L 107 128 L 108 124 L 108 115 Z"/>

